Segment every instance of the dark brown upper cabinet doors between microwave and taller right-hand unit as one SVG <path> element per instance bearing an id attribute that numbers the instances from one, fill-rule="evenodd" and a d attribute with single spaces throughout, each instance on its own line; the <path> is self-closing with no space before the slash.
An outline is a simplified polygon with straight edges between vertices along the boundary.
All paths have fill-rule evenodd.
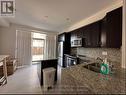
<path id="1" fill-rule="evenodd" d="M 83 38 L 85 38 L 85 47 L 100 46 L 100 23 L 95 22 L 83 28 Z"/>

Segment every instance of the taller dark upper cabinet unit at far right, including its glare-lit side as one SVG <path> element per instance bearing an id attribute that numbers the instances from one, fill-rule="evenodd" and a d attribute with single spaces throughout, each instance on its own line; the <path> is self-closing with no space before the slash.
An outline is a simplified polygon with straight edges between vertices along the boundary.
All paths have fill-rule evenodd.
<path id="1" fill-rule="evenodd" d="M 122 7 L 101 20 L 101 47 L 120 48 L 122 45 Z"/>

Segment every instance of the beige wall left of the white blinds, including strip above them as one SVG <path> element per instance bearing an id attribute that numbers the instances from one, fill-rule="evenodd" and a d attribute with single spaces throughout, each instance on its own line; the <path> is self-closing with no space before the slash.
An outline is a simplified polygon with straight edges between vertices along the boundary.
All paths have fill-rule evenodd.
<path id="1" fill-rule="evenodd" d="M 10 24 L 9 27 L 0 27 L 0 54 L 7 54 L 7 55 L 9 54 L 15 57 L 16 30 L 23 30 L 27 32 L 41 32 L 48 35 L 58 34 L 57 32 L 51 32 L 17 24 Z"/>

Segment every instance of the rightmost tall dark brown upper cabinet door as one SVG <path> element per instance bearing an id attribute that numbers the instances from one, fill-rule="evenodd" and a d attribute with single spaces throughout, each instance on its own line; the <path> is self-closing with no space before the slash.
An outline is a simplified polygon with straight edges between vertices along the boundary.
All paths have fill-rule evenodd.
<path id="1" fill-rule="evenodd" d="M 107 14 L 107 45 L 119 48 L 122 45 L 122 8 Z"/>

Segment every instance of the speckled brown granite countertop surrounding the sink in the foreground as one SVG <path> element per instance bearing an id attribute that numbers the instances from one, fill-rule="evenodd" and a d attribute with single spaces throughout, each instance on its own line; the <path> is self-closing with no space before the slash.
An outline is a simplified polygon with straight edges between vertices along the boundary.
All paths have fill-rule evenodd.
<path id="1" fill-rule="evenodd" d="M 88 93 L 94 93 L 94 94 L 126 93 L 126 85 L 125 85 L 126 70 L 122 68 L 117 68 L 115 74 L 103 75 L 101 73 L 96 73 L 83 67 L 95 61 L 96 61 L 95 59 L 91 59 L 90 62 L 88 63 L 82 61 L 82 64 L 62 69 L 62 75 L 64 77 L 66 75 L 71 76 L 67 79 L 73 78 L 74 83 L 76 83 L 76 85 L 78 84 L 88 88 Z M 65 84 L 65 81 L 67 82 L 67 79 L 63 78 L 63 80 L 61 80 L 61 83 Z"/>

